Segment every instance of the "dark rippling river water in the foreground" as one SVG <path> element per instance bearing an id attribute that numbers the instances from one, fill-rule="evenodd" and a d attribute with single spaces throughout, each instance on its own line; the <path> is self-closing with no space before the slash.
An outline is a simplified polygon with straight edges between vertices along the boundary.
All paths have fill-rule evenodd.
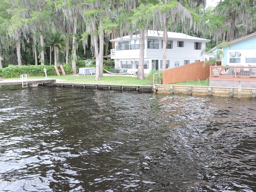
<path id="1" fill-rule="evenodd" d="M 2 192 L 256 192 L 256 100 L 0 89 Z"/>

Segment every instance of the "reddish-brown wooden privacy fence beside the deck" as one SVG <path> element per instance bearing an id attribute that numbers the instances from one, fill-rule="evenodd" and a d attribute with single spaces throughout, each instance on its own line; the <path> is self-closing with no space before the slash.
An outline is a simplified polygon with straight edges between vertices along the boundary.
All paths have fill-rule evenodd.
<path id="1" fill-rule="evenodd" d="M 206 80 L 210 75 L 210 66 L 203 66 L 203 61 L 194 62 L 163 71 L 163 84 Z"/>

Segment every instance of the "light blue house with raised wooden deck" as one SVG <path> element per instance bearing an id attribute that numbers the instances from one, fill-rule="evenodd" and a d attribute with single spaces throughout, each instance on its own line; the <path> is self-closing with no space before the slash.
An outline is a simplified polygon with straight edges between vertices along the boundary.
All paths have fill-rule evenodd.
<path id="1" fill-rule="evenodd" d="M 217 48 L 222 48 L 222 65 L 210 67 L 210 86 L 256 88 L 256 32 Z"/>

